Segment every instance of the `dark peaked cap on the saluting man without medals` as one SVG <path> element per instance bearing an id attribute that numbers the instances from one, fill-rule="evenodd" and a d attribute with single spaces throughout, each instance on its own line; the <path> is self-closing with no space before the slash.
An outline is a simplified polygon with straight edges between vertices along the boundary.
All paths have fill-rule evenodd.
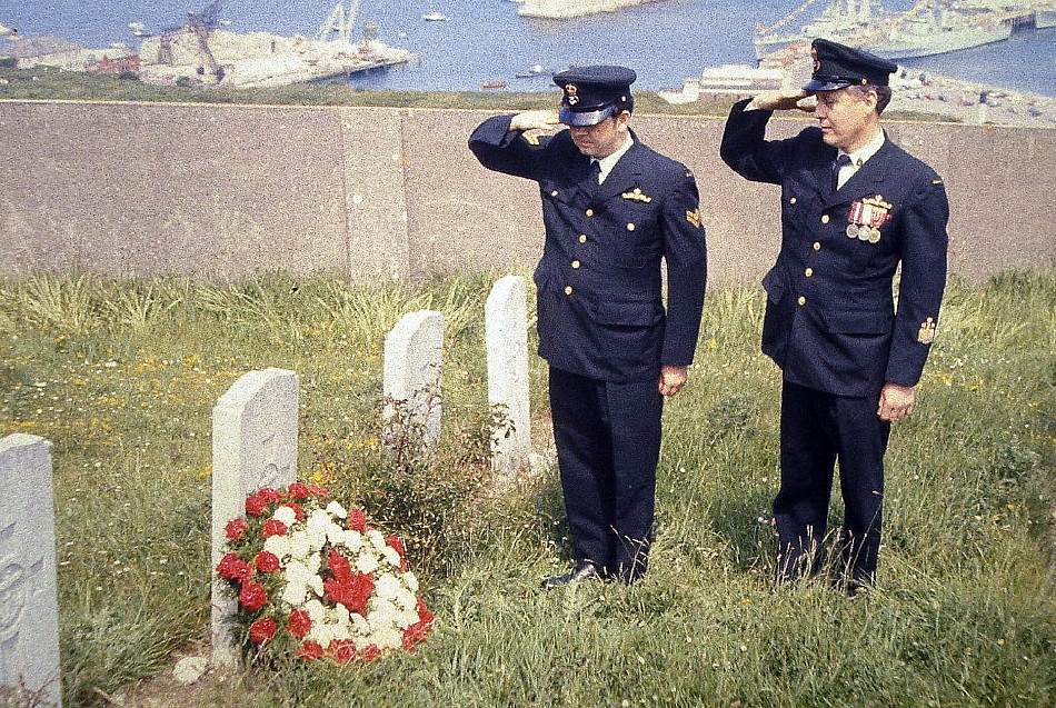
<path id="1" fill-rule="evenodd" d="M 626 67 L 578 67 L 554 74 L 565 94 L 558 117 L 566 126 L 596 126 L 609 116 L 631 110 L 630 84 L 638 78 Z"/>

